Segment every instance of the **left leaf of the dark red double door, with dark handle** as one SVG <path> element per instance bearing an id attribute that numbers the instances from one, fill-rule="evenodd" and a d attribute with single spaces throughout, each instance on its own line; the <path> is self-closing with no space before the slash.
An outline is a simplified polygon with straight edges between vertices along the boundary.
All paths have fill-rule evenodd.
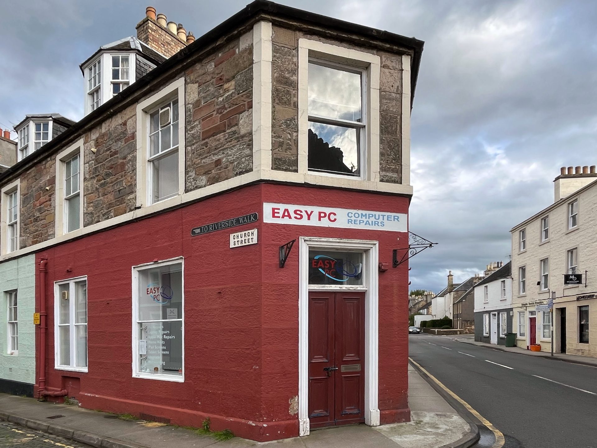
<path id="1" fill-rule="evenodd" d="M 309 293 L 309 418 L 312 426 L 334 424 L 334 366 L 336 294 Z"/>

